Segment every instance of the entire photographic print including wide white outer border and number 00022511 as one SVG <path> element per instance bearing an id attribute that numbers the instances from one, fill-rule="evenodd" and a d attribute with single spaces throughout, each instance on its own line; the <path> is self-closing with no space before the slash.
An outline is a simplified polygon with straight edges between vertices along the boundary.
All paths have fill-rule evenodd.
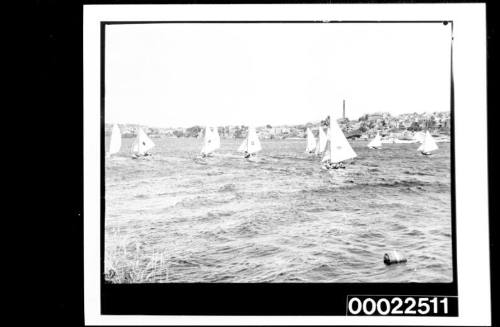
<path id="1" fill-rule="evenodd" d="M 87 321 L 488 320 L 484 6 L 464 8 L 85 6 Z M 321 284 L 343 305 L 144 309 L 199 284 Z"/>

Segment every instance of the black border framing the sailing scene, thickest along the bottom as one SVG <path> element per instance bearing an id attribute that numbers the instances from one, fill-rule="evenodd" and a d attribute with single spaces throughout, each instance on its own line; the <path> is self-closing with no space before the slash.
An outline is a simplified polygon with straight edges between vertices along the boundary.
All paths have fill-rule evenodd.
<path id="1" fill-rule="evenodd" d="M 105 28 L 118 24 L 241 23 L 451 23 L 450 122 L 451 219 L 453 282 L 451 283 L 161 283 L 107 284 L 104 281 L 105 210 Z M 345 315 L 347 295 L 391 294 L 457 296 L 455 203 L 455 99 L 453 21 L 101 21 L 101 314 L 103 315 Z M 214 300 L 216 295 L 216 300 Z"/>

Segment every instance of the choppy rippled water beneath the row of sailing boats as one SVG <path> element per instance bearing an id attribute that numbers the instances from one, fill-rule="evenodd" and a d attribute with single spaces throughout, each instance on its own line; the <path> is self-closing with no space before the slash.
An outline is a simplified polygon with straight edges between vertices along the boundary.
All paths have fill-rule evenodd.
<path id="1" fill-rule="evenodd" d="M 106 160 L 106 262 L 135 282 L 452 281 L 449 143 L 354 141 L 325 171 L 305 139 L 262 140 L 256 163 L 222 139 L 207 164 L 202 140 L 154 142 L 152 160 L 128 157 L 132 139 Z M 384 265 L 390 250 L 408 262 Z"/>

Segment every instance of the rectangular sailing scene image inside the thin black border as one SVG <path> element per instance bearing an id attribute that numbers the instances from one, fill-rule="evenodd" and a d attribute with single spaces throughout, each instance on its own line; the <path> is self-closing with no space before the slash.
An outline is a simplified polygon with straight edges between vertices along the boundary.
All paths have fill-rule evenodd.
<path id="1" fill-rule="evenodd" d="M 106 281 L 451 282 L 451 38 L 106 26 Z"/>

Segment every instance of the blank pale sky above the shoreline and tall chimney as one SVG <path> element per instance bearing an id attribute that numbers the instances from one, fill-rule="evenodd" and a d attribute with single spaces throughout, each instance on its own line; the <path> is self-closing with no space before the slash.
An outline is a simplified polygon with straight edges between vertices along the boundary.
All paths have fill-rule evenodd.
<path id="1" fill-rule="evenodd" d="M 108 25 L 105 121 L 304 124 L 450 110 L 451 25 Z"/>

